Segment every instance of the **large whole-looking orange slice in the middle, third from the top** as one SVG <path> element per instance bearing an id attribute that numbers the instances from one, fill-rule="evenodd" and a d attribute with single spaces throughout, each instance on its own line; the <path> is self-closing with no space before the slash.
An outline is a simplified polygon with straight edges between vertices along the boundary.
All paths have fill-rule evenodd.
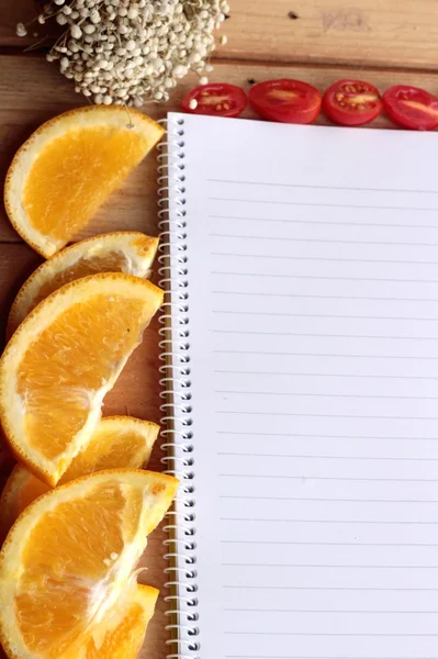
<path id="1" fill-rule="evenodd" d="M 92 275 L 52 293 L 0 360 L 0 418 L 20 461 L 56 485 L 88 444 L 162 291 L 124 273 Z"/>

